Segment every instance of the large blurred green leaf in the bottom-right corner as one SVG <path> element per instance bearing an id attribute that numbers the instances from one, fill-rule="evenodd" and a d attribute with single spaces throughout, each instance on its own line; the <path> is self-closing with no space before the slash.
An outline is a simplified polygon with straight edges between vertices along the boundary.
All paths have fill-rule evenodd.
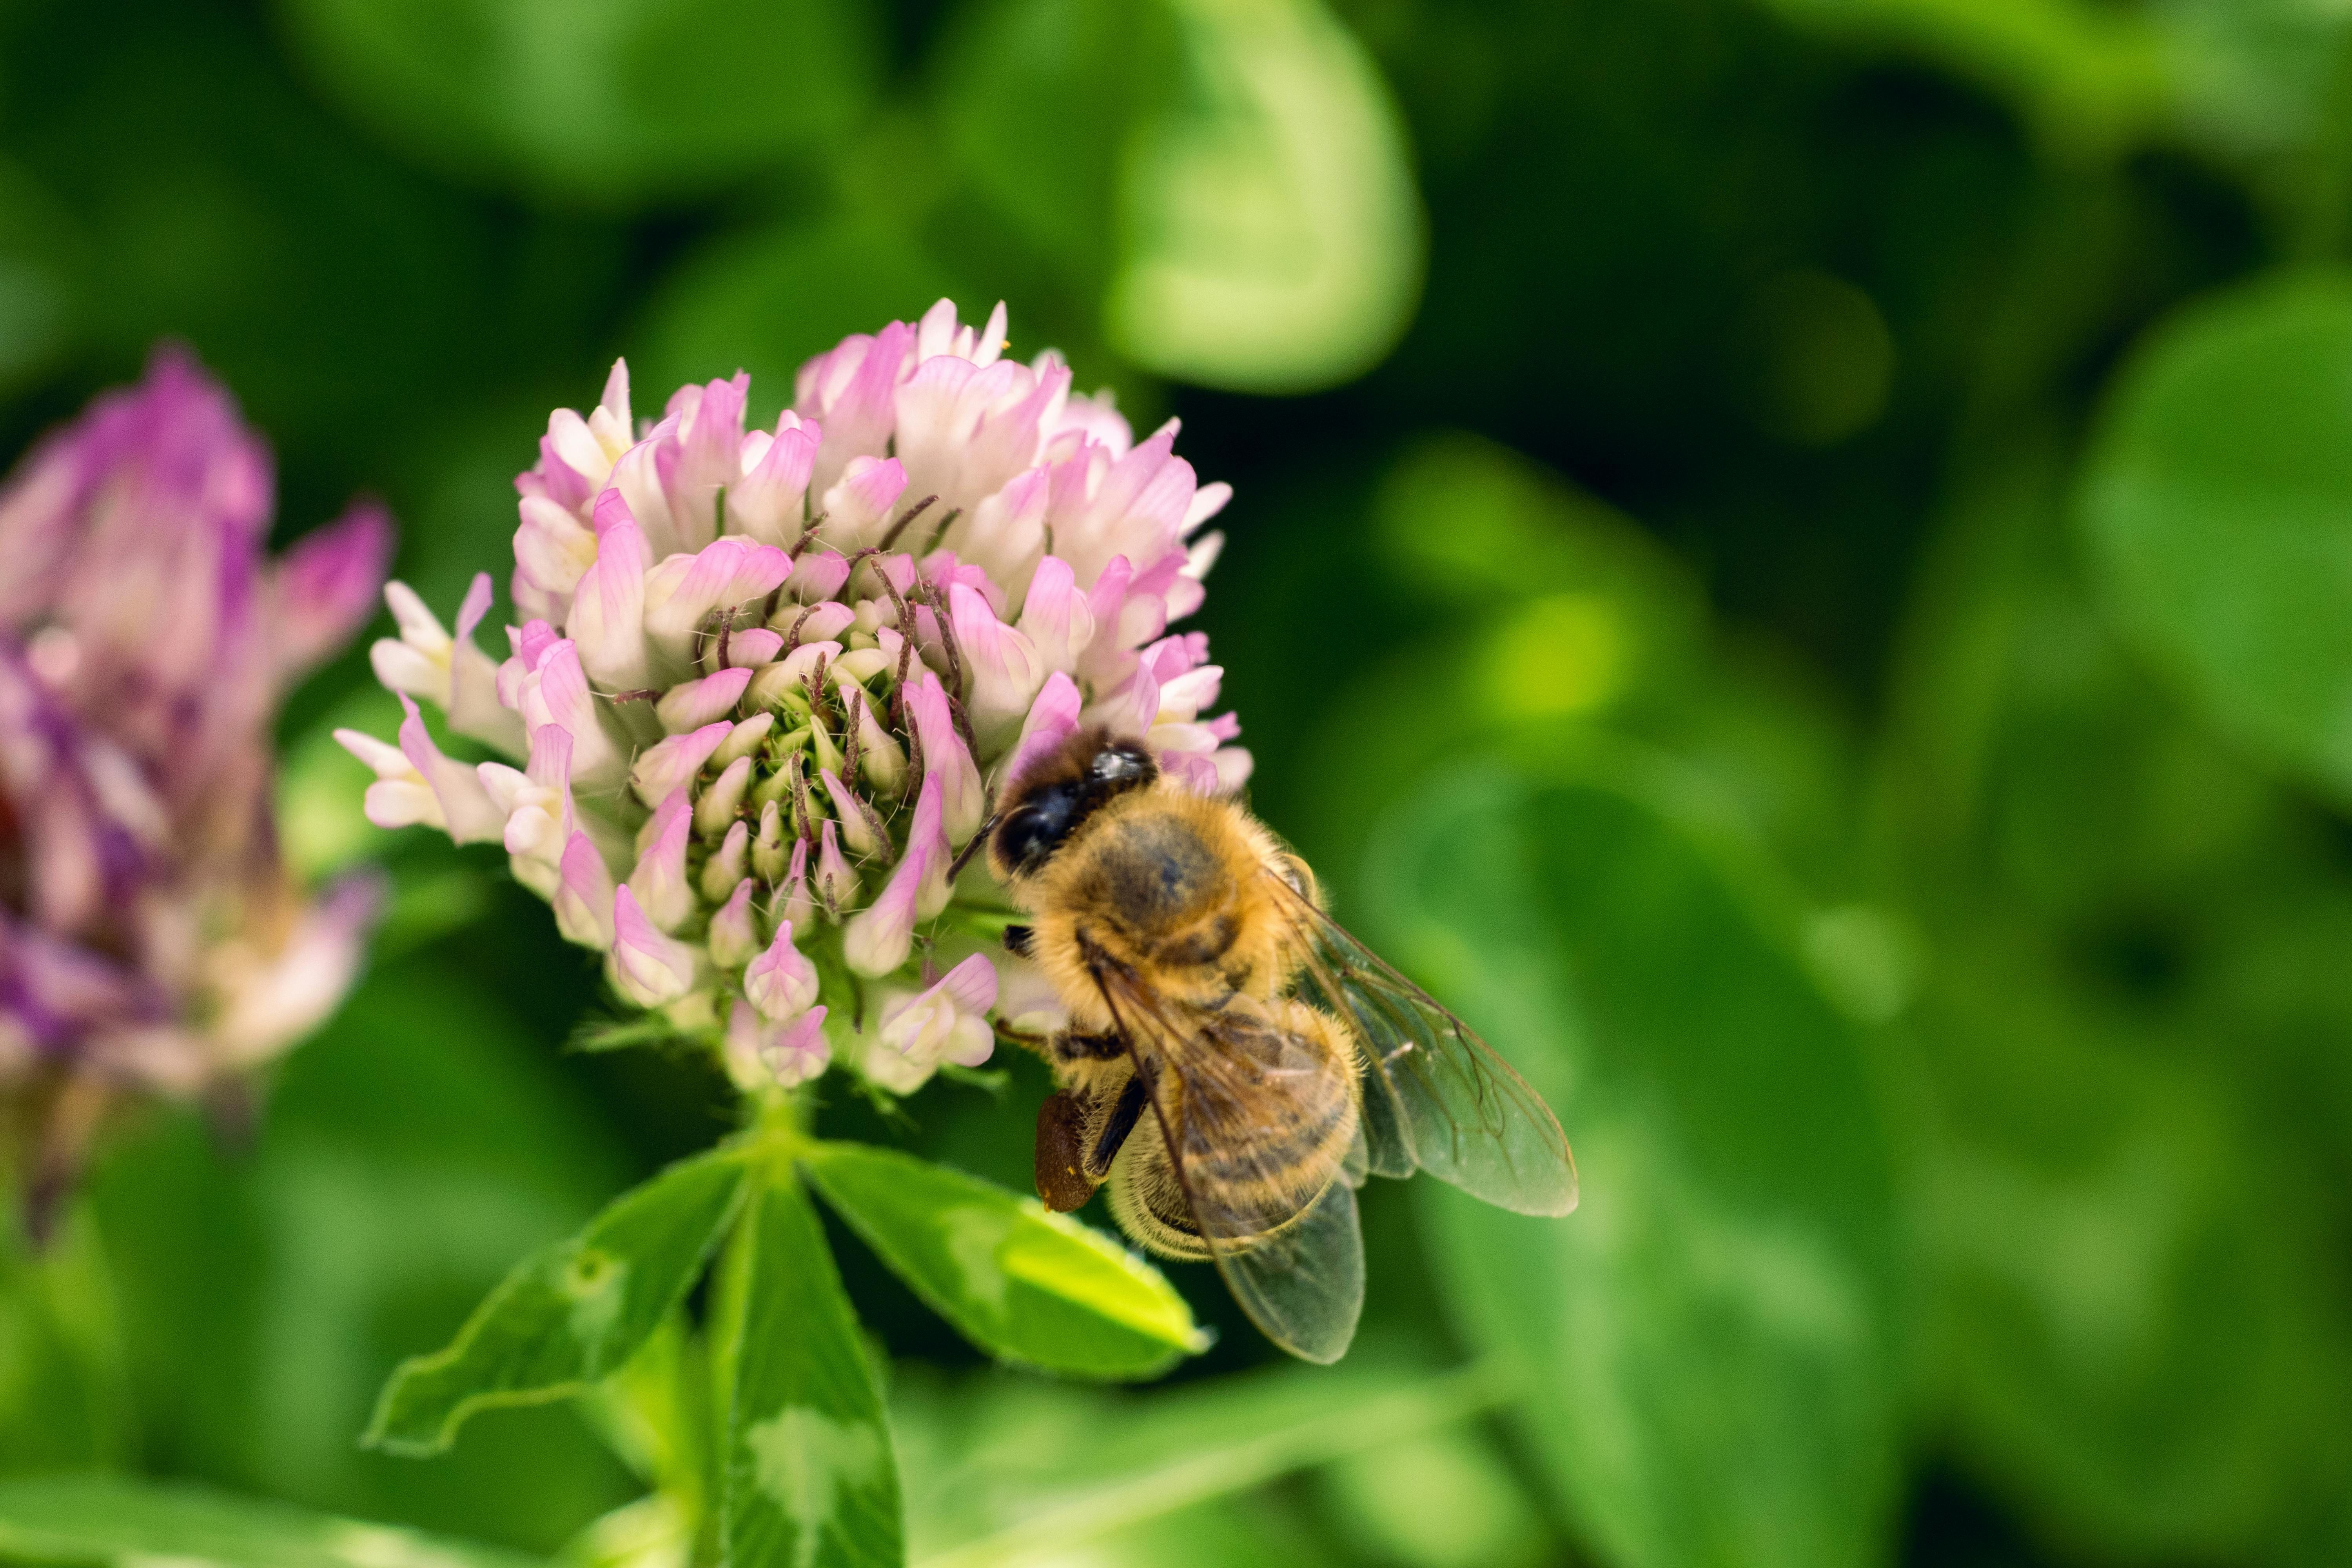
<path id="1" fill-rule="evenodd" d="M 2225 1084 L 2037 969 L 1947 940 L 1915 1016 L 1962 1453 L 2133 1556 L 2291 1559 L 2352 1474 L 2352 1347 L 2293 1166 Z"/>

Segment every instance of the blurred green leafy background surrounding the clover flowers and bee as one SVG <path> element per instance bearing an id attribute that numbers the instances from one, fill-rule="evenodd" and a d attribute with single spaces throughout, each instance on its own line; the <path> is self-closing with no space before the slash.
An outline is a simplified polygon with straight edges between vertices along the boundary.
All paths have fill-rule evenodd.
<path id="1" fill-rule="evenodd" d="M 837 1232 L 917 1559 L 2343 1563 L 2347 31 L 0 0 L 0 447 L 179 336 L 282 536 L 379 491 L 449 607 L 619 353 L 771 416 L 840 334 L 1007 299 L 1183 416 L 1256 809 L 1548 1093 L 1585 1206 L 1374 1182 L 1345 1368 L 1178 1269 L 1221 1342 L 1141 1392 L 988 1371 Z M 355 1434 L 729 1093 L 569 1051 L 595 973 L 499 858 L 358 818 L 325 731 L 386 703 L 355 649 L 282 731 L 296 856 L 395 872 L 372 978 L 249 1140 L 151 1112 L 0 1253 L 0 1465 L 550 1552 L 642 1490 L 579 1410 Z M 826 1119 L 1018 1187 L 1007 1067 Z"/>

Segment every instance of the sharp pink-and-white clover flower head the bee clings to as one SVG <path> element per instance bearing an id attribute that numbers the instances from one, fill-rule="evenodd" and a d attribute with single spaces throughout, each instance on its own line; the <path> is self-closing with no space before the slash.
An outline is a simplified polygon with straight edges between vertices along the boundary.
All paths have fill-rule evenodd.
<path id="1" fill-rule="evenodd" d="M 447 632 L 386 590 L 376 672 L 508 762 L 456 762 L 412 708 L 397 743 L 346 738 L 369 818 L 503 844 L 614 990 L 746 1086 L 847 1063 L 908 1093 L 997 1027 L 1051 1030 L 1051 987 L 995 952 L 995 799 L 1089 722 L 1202 792 L 1249 752 L 1204 717 L 1207 637 L 1169 630 L 1228 487 L 1174 421 L 1138 442 L 1058 355 L 1004 346 L 1002 306 L 941 301 L 809 360 L 771 428 L 743 374 L 640 421 L 616 364 L 515 480 L 503 661 L 473 637 L 487 576 Z"/>

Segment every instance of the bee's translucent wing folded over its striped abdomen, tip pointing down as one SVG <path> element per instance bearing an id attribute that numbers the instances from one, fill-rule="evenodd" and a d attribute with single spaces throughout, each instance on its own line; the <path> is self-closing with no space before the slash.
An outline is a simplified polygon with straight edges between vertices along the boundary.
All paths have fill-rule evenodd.
<path id="1" fill-rule="evenodd" d="M 1152 1093 L 1176 1182 L 1232 1298 L 1282 1349 L 1324 1366 L 1338 1361 L 1364 1312 L 1364 1239 L 1355 1187 L 1343 1180 L 1345 1161 L 1331 1164 L 1322 1192 L 1308 1197 L 1303 1208 L 1272 1201 L 1287 1185 L 1296 1192 L 1296 1168 L 1247 1168 L 1247 1150 L 1256 1140 L 1242 1133 L 1263 1121 L 1251 1105 L 1261 1086 L 1218 1051 L 1192 1046 L 1200 1020 L 1141 978 L 1103 964 L 1094 969 L 1094 983 Z M 1188 1168 L 1209 1161 L 1228 1166 L 1214 1182 L 1204 1171 Z M 1237 1161 L 1240 1171 L 1232 1168 Z"/>

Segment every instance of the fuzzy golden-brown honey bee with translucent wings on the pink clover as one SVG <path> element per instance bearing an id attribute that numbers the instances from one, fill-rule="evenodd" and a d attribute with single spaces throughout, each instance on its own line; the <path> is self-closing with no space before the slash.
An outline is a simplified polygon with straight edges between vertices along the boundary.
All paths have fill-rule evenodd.
<path id="1" fill-rule="evenodd" d="M 1108 1182 L 1134 1241 L 1216 1262 L 1270 1340 L 1336 1361 L 1364 1305 L 1367 1173 L 1576 1206 L 1543 1100 L 1324 914 L 1308 865 L 1242 806 L 1087 729 L 1011 783 L 985 839 L 1028 914 L 1004 945 L 1070 1013 L 1044 1041 L 1049 1208 Z"/>

